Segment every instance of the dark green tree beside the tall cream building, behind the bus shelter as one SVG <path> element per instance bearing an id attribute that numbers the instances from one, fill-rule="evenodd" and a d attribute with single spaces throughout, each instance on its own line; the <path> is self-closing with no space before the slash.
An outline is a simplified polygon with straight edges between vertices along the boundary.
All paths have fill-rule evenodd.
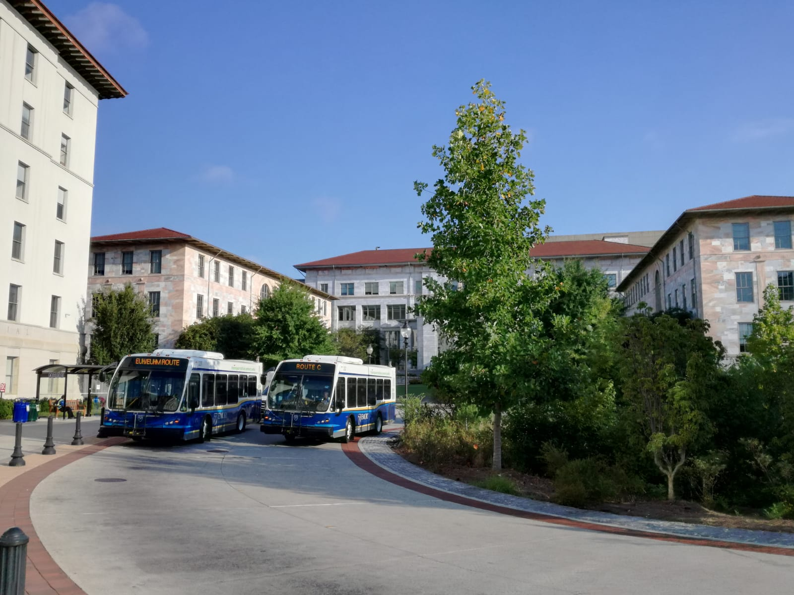
<path id="1" fill-rule="evenodd" d="M 93 310 L 91 363 L 114 363 L 130 353 L 147 353 L 156 347 L 148 301 L 129 283 L 122 290 L 94 294 Z"/>

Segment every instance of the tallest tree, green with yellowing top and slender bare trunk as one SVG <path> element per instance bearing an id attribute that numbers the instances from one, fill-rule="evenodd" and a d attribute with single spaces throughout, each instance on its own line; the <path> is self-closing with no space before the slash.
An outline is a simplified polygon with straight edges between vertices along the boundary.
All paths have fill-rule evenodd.
<path id="1" fill-rule="evenodd" d="M 457 108 L 447 146 L 433 155 L 445 174 L 422 205 L 418 224 L 433 239 L 418 255 L 449 282 L 427 278 L 430 295 L 416 306 L 426 322 L 443 328 L 453 347 L 434 358 L 428 378 L 493 413 L 493 468 L 502 467 L 502 413 L 526 394 L 526 367 L 544 350 L 538 312 L 552 283 L 530 259 L 549 228 L 539 225 L 545 202 L 534 194 L 532 171 L 518 162 L 526 132 L 505 123 L 504 102 L 483 80 L 475 102 Z M 421 196 L 428 185 L 414 182 Z M 534 269 L 534 276 L 527 271 Z M 534 363 L 533 363 L 534 362 Z"/>

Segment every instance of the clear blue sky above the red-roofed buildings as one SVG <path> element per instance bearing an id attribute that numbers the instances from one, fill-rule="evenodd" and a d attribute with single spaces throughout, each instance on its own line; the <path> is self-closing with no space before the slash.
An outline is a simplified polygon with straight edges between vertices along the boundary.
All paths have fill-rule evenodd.
<path id="1" fill-rule="evenodd" d="M 557 233 L 794 194 L 794 3 L 49 0 L 129 90 L 99 109 L 92 232 L 170 227 L 285 274 L 430 244 L 491 80 Z"/>

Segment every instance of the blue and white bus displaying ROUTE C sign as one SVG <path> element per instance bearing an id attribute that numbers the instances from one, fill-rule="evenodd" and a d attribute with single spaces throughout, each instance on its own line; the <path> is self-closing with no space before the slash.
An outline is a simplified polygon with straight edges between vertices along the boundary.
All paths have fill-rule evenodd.
<path id="1" fill-rule="evenodd" d="M 395 369 L 341 355 L 285 359 L 268 386 L 260 430 L 297 436 L 341 438 L 379 434 L 395 420 Z"/>

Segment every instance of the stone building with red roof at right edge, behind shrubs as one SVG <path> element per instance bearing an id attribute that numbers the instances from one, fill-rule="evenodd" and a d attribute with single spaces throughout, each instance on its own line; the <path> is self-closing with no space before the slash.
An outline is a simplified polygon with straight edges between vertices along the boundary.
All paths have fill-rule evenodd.
<path id="1" fill-rule="evenodd" d="M 748 196 L 687 209 L 618 290 L 629 313 L 683 308 L 711 324 L 727 355 L 745 351 L 763 291 L 794 305 L 794 197 Z"/>

